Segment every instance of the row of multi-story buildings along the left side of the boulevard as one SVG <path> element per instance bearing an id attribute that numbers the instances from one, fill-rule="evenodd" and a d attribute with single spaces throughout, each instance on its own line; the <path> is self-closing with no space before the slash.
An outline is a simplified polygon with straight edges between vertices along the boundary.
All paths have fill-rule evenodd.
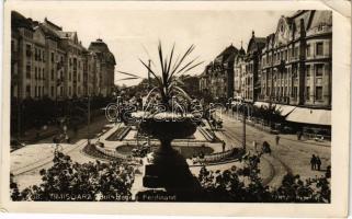
<path id="1" fill-rule="evenodd" d="M 115 65 L 114 55 L 102 39 L 86 49 L 77 32 L 12 11 L 11 97 L 106 96 L 114 88 Z"/>

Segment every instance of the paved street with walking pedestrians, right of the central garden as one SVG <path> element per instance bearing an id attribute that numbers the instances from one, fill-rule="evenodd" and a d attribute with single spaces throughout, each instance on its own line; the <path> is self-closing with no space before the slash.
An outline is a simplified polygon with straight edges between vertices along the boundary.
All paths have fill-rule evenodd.
<path id="1" fill-rule="evenodd" d="M 230 115 L 223 115 L 223 119 L 225 130 L 223 134 L 227 137 L 227 141 L 240 146 L 242 141 L 242 123 L 237 120 L 236 116 L 232 118 Z M 263 141 L 268 141 L 271 145 L 272 154 L 264 155 L 264 163 L 262 164 L 262 171 L 272 174 L 272 177 L 266 177 L 266 182 L 264 182 L 270 186 L 276 187 L 280 185 L 283 175 L 288 172 L 299 174 L 303 178 L 325 174 L 323 171 L 318 172 L 310 170 L 311 154 L 318 154 L 320 157 L 322 170 L 326 170 L 327 165 L 331 165 L 330 147 L 285 139 L 284 136 L 276 146 L 274 135 L 259 130 L 249 125 L 246 126 L 246 146 L 251 151 L 253 151 L 253 140 L 258 142 L 258 148 L 261 148 Z"/>

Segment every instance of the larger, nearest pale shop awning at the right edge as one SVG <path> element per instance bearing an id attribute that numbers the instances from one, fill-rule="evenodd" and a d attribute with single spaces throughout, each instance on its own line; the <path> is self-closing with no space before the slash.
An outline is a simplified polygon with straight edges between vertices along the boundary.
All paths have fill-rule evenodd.
<path id="1" fill-rule="evenodd" d="M 286 120 L 303 124 L 331 126 L 331 111 L 296 107 Z"/>

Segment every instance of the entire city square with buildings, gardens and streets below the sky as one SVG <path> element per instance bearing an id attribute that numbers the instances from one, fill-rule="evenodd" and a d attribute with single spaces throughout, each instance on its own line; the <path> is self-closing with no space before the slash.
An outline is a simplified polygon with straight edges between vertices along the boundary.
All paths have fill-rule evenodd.
<path id="1" fill-rule="evenodd" d="M 127 68 L 103 34 L 12 11 L 11 198 L 330 203 L 332 13 L 277 19 Z"/>

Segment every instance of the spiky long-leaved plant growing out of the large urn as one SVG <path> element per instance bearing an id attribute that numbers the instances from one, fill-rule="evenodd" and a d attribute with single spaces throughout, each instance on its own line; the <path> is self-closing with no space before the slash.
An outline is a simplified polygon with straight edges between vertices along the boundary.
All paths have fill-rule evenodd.
<path id="1" fill-rule="evenodd" d="M 163 55 L 162 45 L 159 42 L 158 45 L 158 54 L 159 54 L 159 62 L 160 69 L 154 69 L 151 66 L 148 66 L 145 61 L 139 59 L 144 67 L 151 73 L 155 82 L 155 87 L 149 91 L 147 95 L 147 105 L 149 104 L 150 96 L 152 93 L 160 94 L 161 103 L 166 106 L 167 110 L 171 110 L 171 99 L 172 96 L 182 96 L 185 100 L 191 100 L 188 93 L 180 88 L 183 84 L 182 80 L 180 79 L 181 74 L 189 72 L 190 70 L 194 69 L 195 67 L 203 64 L 203 61 L 196 62 L 197 58 L 188 60 L 192 51 L 194 50 L 195 46 L 191 45 L 182 56 L 178 56 L 174 59 L 174 48 L 175 45 L 173 44 L 172 49 L 168 56 Z M 181 57 L 181 58 L 180 58 Z M 127 73 L 120 71 L 123 74 L 128 76 L 129 79 L 136 79 L 137 76 L 133 73 Z M 183 79 L 185 79 L 184 77 Z M 126 80 L 127 80 L 126 79 Z"/>

